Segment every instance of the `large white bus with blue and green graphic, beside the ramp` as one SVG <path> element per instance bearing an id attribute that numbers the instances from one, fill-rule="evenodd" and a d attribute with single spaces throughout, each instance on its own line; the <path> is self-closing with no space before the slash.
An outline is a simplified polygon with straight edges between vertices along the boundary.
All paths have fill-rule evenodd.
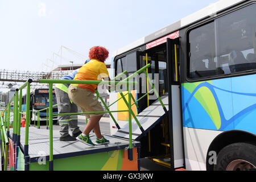
<path id="1" fill-rule="evenodd" d="M 147 97 L 133 105 L 146 133 L 133 119 L 141 158 L 171 169 L 255 170 L 255 17 L 256 1 L 218 1 L 114 52 L 114 76 L 134 73 L 145 57 L 148 73 L 159 74 L 168 112 Z M 142 95 L 134 88 L 135 100 Z M 110 105 L 118 98 L 111 92 Z M 110 106 L 125 109 L 122 99 Z M 111 134 L 128 138 L 128 114 L 113 117 L 121 129 L 110 117 Z"/>

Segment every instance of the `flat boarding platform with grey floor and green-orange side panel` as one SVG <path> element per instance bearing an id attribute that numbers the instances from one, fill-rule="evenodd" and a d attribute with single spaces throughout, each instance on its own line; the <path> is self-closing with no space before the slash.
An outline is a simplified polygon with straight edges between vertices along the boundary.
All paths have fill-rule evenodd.
<path id="1" fill-rule="evenodd" d="M 12 135 L 13 130 L 10 129 L 10 137 Z M 20 136 L 20 149 L 24 151 L 24 127 L 20 129 Z M 54 170 L 104 170 L 104 167 L 108 166 L 110 163 L 112 163 L 112 166 L 114 164 L 114 170 L 123 169 L 124 163 L 127 163 L 128 161 L 128 159 L 126 159 L 127 154 L 125 152 L 127 152 L 126 149 L 129 148 L 129 140 L 113 137 L 106 134 L 104 134 L 104 136 L 108 138 L 110 143 L 100 146 L 88 146 L 78 140 L 68 142 L 60 141 L 59 130 L 53 130 L 53 161 L 55 161 Z M 96 136 L 94 134 L 90 134 L 90 138 L 93 142 L 96 140 Z M 49 130 L 30 127 L 28 146 L 28 155 L 30 157 L 29 170 L 48 170 L 47 164 L 39 165 L 38 162 L 40 162 L 40 160 L 42 160 L 42 157 L 44 157 L 48 163 Z M 140 147 L 140 142 L 133 141 L 133 146 L 135 147 L 135 152 L 135 149 L 137 149 L 137 147 Z M 24 158 L 24 156 L 22 156 L 22 158 Z M 88 162 L 90 160 L 97 160 L 97 158 L 104 159 L 105 163 L 94 163 L 89 165 Z M 112 161 L 108 163 L 108 161 L 110 160 L 115 160 L 116 162 L 113 163 Z M 135 160 L 137 163 L 137 155 L 134 155 L 134 161 Z M 60 163 L 65 164 L 65 166 L 60 165 Z M 82 165 L 82 163 L 84 165 Z M 139 164 L 137 163 L 137 169 L 139 169 L 138 165 Z M 84 166 L 84 168 L 76 168 L 77 166 Z"/>

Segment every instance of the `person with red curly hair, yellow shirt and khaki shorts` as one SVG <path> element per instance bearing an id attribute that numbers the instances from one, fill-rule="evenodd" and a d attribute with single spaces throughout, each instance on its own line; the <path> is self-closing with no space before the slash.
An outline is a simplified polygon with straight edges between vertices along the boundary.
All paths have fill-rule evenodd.
<path id="1" fill-rule="evenodd" d="M 108 58 L 109 51 L 101 46 L 90 48 L 89 59 L 90 61 L 84 64 L 77 72 L 73 80 L 110 80 L 109 72 L 106 68 L 104 61 Z M 71 84 L 68 88 L 69 98 L 78 106 L 81 107 L 82 112 L 89 111 L 104 111 L 101 103 L 94 96 L 97 85 L 93 84 Z M 90 140 L 89 133 L 94 131 L 97 139 L 96 144 L 106 144 L 109 140 L 101 135 L 100 119 L 104 113 L 85 114 L 89 119 L 84 131 L 76 137 L 77 140 L 94 146 L 95 144 Z"/>

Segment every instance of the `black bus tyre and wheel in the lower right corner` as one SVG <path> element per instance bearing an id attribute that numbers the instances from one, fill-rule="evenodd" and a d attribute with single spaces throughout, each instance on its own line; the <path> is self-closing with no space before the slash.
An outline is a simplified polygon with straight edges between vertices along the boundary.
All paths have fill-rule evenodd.
<path id="1" fill-rule="evenodd" d="M 233 143 L 222 148 L 217 155 L 214 171 L 255 171 L 256 146 L 250 143 Z"/>

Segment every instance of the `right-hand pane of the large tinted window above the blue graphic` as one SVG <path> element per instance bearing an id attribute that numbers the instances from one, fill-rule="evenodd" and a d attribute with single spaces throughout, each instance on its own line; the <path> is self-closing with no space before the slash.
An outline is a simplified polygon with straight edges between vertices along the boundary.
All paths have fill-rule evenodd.
<path id="1" fill-rule="evenodd" d="M 256 68 L 255 17 L 254 4 L 217 19 L 218 66 L 225 74 Z"/>

